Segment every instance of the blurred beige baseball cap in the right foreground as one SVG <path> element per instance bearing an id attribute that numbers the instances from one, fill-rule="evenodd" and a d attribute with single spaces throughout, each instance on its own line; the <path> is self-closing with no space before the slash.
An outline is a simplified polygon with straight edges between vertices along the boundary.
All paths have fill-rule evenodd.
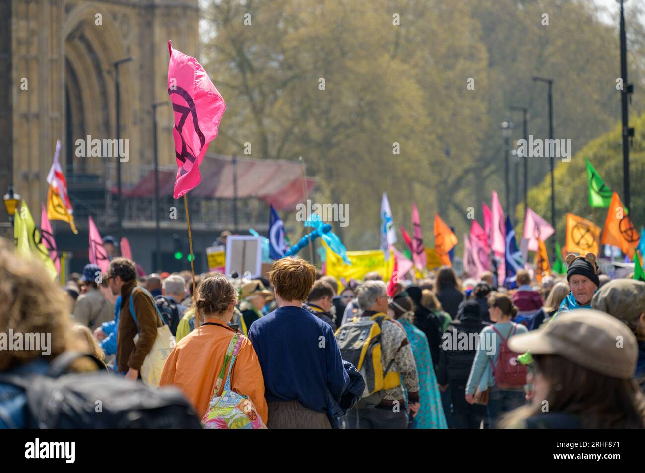
<path id="1" fill-rule="evenodd" d="M 537 331 L 511 336 L 515 352 L 557 354 L 591 371 L 630 380 L 636 369 L 636 337 L 624 323 L 593 309 L 563 312 Z"/>

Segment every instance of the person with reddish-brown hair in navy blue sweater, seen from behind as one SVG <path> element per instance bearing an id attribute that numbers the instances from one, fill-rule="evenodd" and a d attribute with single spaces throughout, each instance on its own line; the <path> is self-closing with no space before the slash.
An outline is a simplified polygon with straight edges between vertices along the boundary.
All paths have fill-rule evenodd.
<path id="1" fill-rule="evenodd" d="M 331 429 L 329 394 L 341 401 L 350 378 L 332 327 L 303 309 L 315 268 L 283 258 L 269 273 L 278 309 L 253 322 L 248 338 L 260 360 L 269 429 Z"/>

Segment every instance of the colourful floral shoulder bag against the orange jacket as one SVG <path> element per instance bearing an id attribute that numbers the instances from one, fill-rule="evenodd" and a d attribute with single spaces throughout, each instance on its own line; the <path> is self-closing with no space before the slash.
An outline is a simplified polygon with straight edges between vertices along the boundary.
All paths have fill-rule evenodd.
<path id="1" fill-rule="evenodd" d="M 206 322 L 204 325 L 217 324 Z M 248 396 L 237 394 L 231 389 L 231 371 L 241 346 L 242 337 L 236 333 L 228 343 L 228 349 L 224 354 L 222 371 L 217 376 L 213 397 L 201 421 L 205 429 L 266 429 L 266 424 L 257 409 L 255 409 L 253 401 Z M 229 360 L 230 364 L 228 363 Z M 227 364 L 226 382 L 224 383 L 223 391 L 220 393 L 219 390 L 224 381 L 224 371 Z"/>

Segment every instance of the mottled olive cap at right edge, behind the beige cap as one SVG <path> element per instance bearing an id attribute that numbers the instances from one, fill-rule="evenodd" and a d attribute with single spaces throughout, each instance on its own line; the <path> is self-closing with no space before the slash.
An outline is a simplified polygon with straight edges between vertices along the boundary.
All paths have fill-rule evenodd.
<path id="1" fill-rule="evenodd" d="M 620 278 L 604 284 L 593 295 L 591 309 L 629 322 L 645 313 L 645 282 Z"/>

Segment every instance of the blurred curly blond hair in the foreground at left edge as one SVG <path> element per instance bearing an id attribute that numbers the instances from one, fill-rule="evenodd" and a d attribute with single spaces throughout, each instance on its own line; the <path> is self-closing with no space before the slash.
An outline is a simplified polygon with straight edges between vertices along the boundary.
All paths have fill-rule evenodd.
<path id="1" fill-rule="evenodd" d="M 70 298 L 50 278 L 43 264 L 27 255 L 16 255 L 0 238 L 0 333 L 51 334 L 50 354 L 41 350 L 0 350 L 0 372 L 40 356 L 53 360 L 70 343 Z M 26 347 L 25 347 L 26 348 Z"/>

